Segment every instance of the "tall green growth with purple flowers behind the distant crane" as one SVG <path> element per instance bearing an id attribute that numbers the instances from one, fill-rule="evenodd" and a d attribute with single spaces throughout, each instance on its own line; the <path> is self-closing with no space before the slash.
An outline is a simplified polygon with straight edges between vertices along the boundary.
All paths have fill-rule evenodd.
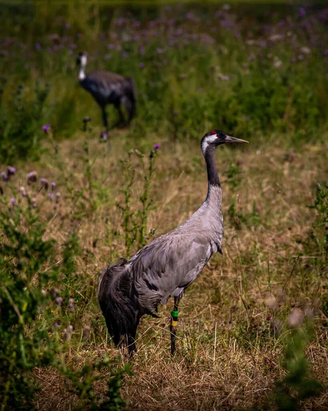
<path id="1" fill-rule="evenodd" d="M 48 2 L 16 7 L 19 24 L 12 26 L 5 18 L 11 6 L 1 7 L 4 97 L 20 82 L 29 93 L 40 79 L 51 82 L 42 121 L 58 137 L 75 134 L 86 115 L 101 125 L 96 103 L 78 85 L 80 50 L 89 53 L 88 69 L 136 79 L 138 118 L 130 129 L 136 138 L 149 132 L 198 138 L 214 123 L 260 140 L 288 132 L 308 141 L 326 129 L 323 8 Z M 110 110 L 112 123 L 114 116 Z"/>

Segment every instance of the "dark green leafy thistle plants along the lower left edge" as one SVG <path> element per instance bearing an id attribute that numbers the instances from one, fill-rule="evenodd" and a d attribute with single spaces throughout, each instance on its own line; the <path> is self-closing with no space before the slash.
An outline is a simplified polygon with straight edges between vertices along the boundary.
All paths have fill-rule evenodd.
<path id="1" fill-rule="evenodd" d="M 5 189 L 10 192 L 10 186 Z M 75 301 L 68 298 L 68 278 L 77 269 L 79 241 L 75 232 L 61 247 L 46 239 L 47 221 L 41 218 L 40 207 L 29 192 L 22 192 L 19 201 L 0 196 L 0 409 L 34 410 L 40 389 L 34 369 L 52 366 L 53 372 L 71 381 L 79 396 L 77 409 L 123 410 L 120 388 L 126 367 L 114 367 L 107 358 L 87 361 L 80 369 L 64 361 L 72 343 L 69 313 L 75 312 Z M 68 285 L 62 287 L 62 279 Z M 99 373 L 108 366 L 109 375 Z M 92 389 L 102 379 L 108 379 L 105 399 Z"/>

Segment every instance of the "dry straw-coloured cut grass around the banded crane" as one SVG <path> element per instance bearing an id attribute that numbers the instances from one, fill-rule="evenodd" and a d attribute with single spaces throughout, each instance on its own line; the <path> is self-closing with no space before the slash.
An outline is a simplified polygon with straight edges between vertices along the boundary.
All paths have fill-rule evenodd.
<path id="1" fill-rule="evenodd" d="M 156 228 L 156 236 L 194 212 L 203 202 L 207 188 L 198 144 L 160 142 L 152 189 L 155 207 L 148 222 L 149 229 Z M 147 147 L 147 142 L 129 142 L 124 132 L 116 132 L 111 147 L 90 140 L 90 159 L 96 158 L 92 180 L 97 183 L 97 208 L 92 211 L 86 206 L 79 216 L 79 201 L 68 194 L 67 186 L 71 184 L 76 191 L 87 185 L 81 141 L 60 143 L 56 157 L 51 150 L 44 163 L 36 165 L 40 176 L 57 179 L 62 192 L 58 214 L 49 223 L 49 235 L 60 242 L 62 230 L 74 222 L 79 227 L 85 252 L 79 261 L 77 287 L 90 279 L 95 284 L 98 271 L 107 262 L 124 256 L 123 240 L 110 236 L 108 226 L 121 229 L 121 214 L 115 207 L 122 184 L 118 159 L 125 156 L 127 148 L 140 146 Z M 307 237 L 315 219 L 314 211 L 307 206 L 313 203 L 316 182 L 327 180 L 327 149 L 326 143 L 301 145 L 292 151 L 279 147 L 277 142 L 260 148 L 253 143 L 243 151 L 231 147 L 217 150 L 225 216 L 223 256 L 212 258 L 181 301 L 175 358 L 169 352 L 172 301 L 160 309 L 161 319 L 142 319 L 138 353 L 131 362 L 134 375 L 125 377 L 122 389 L 129 409 L 262 408 L 273 382 L 285 372 L 280 364 L 283 336 L 270 331 L 273 325 L 266 317 L 274 315 L 286 321 L 290 308 L 304 308 L 307 303 L 315 306 L 327 286 L 327 279 L 303 277 L 306 256 L 297 259 L 301 245 L 296 242 L 297 238 Z M 235 191 L 225 177 L 231 162 L 242 171 Z M 22 176 L 30 170 L 31 166 L 21 171 Z M 66 182 L 64 176 L 69 176 Z M 140 184 L 138 179 L 135 195 Z M 236 229 L 228 217 L 233 196 L 239 212 L 247 214 L 255 208 L 260 222 Z M 275 314 L 264 303 L 270 293 L 279 300 Z M 316 336 L 307 347 L 307 355 L 313 374 L 327 387 L 327 332 L 321 327 L 323 314 L 320 310 L 316 314 Z M 94 302 L 84 310 L 81 323 L 96 321 L 97 317 L 100 312 Z M 69 360 L 84 362 L 105 353 L 115 358 L 120 351 L 106 339 L 105 327 L 94 327 L 86 344 L 71 348 Z M 75 397 L 66 392 L 60 377 L 52 370 L 36 371 L 36 375 L 42 382 L 40 410 L 71 409 Z M 96 389 L 104 387 L 100 384 Z M 325 410 L 327 406 L 324 393 L 303 404 L 303 409 Z"/>

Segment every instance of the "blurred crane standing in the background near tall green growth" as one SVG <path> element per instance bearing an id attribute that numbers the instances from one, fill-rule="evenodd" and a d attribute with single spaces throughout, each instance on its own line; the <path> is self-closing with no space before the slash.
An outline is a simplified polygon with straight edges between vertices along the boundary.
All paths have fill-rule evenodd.
<path id="1" fill-rule="evenodd" d="M 79 53 L 77 55 L 79 84 L 90 92 L 94 100 L 99 104 L 103 115 L 103 125 L 106 132 L 108 132 L 106 105 L 114 104 L 120 116 L 119 122 L 125 123 L 125 117 L 121 110 L 121 105 L 124 105 L 128 114 L 128 122 L 130 122 L 136 112 L 136 85 L 132 77 L 123 77 L 110 71 L 90 71 L 88 74 L 84 73 L 88 60 L 87 56 L 87 53 Z"/>

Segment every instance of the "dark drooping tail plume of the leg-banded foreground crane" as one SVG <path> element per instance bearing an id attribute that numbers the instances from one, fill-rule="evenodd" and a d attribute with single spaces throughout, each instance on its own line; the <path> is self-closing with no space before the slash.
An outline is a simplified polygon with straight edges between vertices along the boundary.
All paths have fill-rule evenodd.
<path id="1" fill-rule="evenodd" d="M 112 264 L 104 269 L 99 279 L 98 301 L 115 345 L 125 342 L 129 351 L 133 351 L 140 317 L 131 299 L 131 278 L 125 263 Z"/>

